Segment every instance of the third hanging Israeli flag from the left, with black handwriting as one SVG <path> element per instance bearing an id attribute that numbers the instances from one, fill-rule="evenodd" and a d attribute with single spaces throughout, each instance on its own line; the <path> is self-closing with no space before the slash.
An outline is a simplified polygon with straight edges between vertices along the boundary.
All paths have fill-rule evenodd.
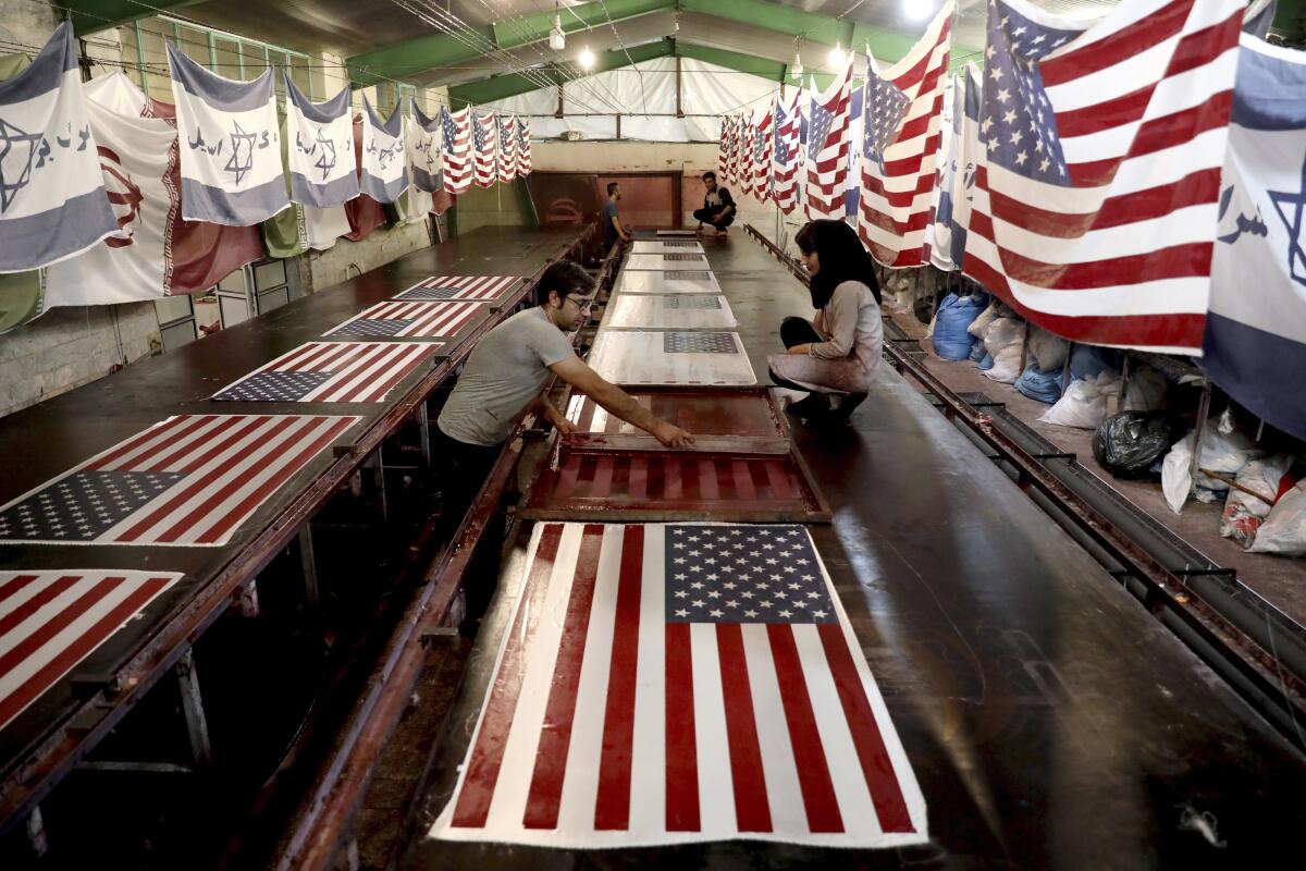
<path id="1" fill-rule="evenodd" d="M 349 87 L 323 103 L 311 102 L 286 78 L 286 137 L 290 138 L 290 200 L 329 209 L 358 196 L 354 114 Z"/>

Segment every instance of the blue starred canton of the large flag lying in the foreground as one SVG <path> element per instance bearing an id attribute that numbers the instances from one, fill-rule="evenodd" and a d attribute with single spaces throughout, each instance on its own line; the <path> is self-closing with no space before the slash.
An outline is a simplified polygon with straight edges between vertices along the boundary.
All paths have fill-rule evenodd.
<path id="1" fill-rule="evenodd" d="M 802 526 L 667 526 L 670 623 L 837 623 Z"/>

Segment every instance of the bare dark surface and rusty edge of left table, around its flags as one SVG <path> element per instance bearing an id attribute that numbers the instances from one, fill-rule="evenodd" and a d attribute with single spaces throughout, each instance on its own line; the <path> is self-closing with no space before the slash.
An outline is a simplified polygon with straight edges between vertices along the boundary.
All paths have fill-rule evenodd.
<path id="1" fill-rule="evenodd" d="M 311 539 L 302 530 L 307 530 L 312 515 L 405 420 L 417 415 L 426 435 L 427 396 L 479 336 L 513 311 L 546 262 L 573 249 L 585 232 L 486 227 L 0 420 L 0 452 L 5 457 L 0 504 L 5 504 L 171 415 L 360 418 L 333 449 L 311 457 L 277 488 L 225 545 L 0 546 L 0 569 L 183 573 L 144 610 L 141 619 L 112 633 L 0 730 L 4 828 L 25 819 L 170 667 L 188 665 L 191 644 L 296 534 L 311 555 Z M 458 319 L 449 328 L 453 332 L 441 336 L 436 353 L 409 372 L 383 402 L 209 400 L 223 385 L 434 274 L 520 276 L 522 281 L 471 316 Z M 306 572 L 310 567 L 307 556 Z M 192 734 L 192 744 L 195 739 Z"/>

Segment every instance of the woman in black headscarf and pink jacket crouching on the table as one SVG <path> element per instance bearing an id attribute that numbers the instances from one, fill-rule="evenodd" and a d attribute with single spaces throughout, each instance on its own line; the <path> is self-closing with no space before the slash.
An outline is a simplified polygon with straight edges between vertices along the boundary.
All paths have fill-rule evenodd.
<path id="1" fill-rule="evenodd" d="M 871 389 L 884 326 L 871 257 L 842 221 L 811 221 L 794 238 L 811 277 L 816 317 L 786 317 L 771 354 L 771 380 L 808 390 L 785 410 L 812 423 L 845 423 Z"/>

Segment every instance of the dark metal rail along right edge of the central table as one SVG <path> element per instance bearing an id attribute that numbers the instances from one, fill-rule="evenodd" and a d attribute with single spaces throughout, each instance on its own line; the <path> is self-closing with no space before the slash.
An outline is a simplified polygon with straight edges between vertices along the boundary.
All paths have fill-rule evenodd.
<path id="1" fill-rule="evenodd" d="M 802 282 L 806 272 L 752 225 L 744 230 L 780 260 Z M 1075 528 L 1110 559 L 1123 567 L 1115 577 L 1122 584 L 1130 578 L 1141 584 L 1143 605 L 1171 632 L 1179 635 L 1208 665 L 1232 684 L 1282 735 L 1306 750 L 1306 734 L 1297 723 L 1306 722 L 1306 680 L 1284 669 L 1284 662 L 1259 640 L 1242 631 L 1220 609 L 1202 597 L 1185 575 L 1162 565 L 1138 541 L 1126 534 L 1105 513 L 1062 483 L 1008 435 L 993 426 L 993 419 L 976 410 L 932 372 L 912 359 L 895 342 L 884 343 L 884 354 L 895 366 L 919 381 L 943 406 L 949 420 L 964 423 L 977 439 L 1011 465 L 1021 490 L 1033 490 L 1050 500 Z"/>

